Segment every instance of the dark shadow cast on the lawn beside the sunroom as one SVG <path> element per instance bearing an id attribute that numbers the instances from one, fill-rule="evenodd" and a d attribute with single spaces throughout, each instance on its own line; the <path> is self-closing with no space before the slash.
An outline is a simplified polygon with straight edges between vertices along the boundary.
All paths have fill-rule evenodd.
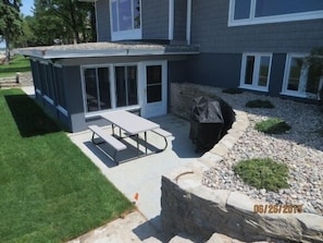
<path id="1" fill-rule="evenodd" d="M 22 137 L 45 135 L 62 131 L 62 129 L 28 96 L 7 95 L 5 101 Z"/>

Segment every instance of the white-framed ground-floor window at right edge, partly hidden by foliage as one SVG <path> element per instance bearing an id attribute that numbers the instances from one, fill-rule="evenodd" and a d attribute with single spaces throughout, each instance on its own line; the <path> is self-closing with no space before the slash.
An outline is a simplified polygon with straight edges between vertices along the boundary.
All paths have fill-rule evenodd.
<path id="1" fill-rule="evenodd" d="M 303 98 L 316 98 L 319 93 L 320 70 L 309 66 L 306 54 L 287 56 L 283 94 Z"/>

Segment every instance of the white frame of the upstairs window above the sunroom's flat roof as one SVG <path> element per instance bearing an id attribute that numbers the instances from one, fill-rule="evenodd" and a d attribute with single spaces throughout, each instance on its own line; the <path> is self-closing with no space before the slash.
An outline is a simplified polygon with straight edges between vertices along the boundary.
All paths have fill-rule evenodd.
<path id="1" fill-rule="evenodd" d="M 134 0 L 132 0 L 133 2 Z M 109 1 L 109 9 L 110 9 L 110 33 L 111 33 L 111 40 L 125 40 L 125 39 L 141 39 L 142 38 L 142 14 L 141 14 L 141 0 L 140 1 L 140 28 L 134 28 L 129 31 L 119 31 L 113 32 L 113 17 L 112 17 L 112 0 Z"/>

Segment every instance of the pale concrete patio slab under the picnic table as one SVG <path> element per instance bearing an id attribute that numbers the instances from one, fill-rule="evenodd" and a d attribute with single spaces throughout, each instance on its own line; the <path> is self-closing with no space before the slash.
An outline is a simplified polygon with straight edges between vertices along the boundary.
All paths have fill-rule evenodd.
<path id="1" fill-rule="evenodd" d="M 119 166 L 111 159 L 112 149 L 108 145 L 100 148 L 95 146 L 91 139 L 91 132 L 69 134 L 69 137 L 76 144 L 85 155 L 102 171 L 109 181 L 111 181 L 129 201 L 134 202 L 138 210 L 157 229 L 161 230 L 159 219 L 161 206 L 161 177 L 174 168 L 185 166 L 198 158 L 200 155 L 195 153 L 195 146 L 188 137 L 189 122 L 176 116 L 167 114 L 151 119 L 161 125 L 162 129 L 171 132 L 167 148 L 158 154 L 140 157 L 125 162 L 121 161 Z M 107 133 L 112 133 L 111 126 L 104 126 Z M 147 133 L 149 150 L 162 148 L 164 141 L 161 136 Z M 129 149 L 121 151 L 119 159 L 129 159 L 136 156 L 136 142 L 133 138 L 123 141 Z M 140 150 L 144 146 L 140 145 Z M 135 199 L 135 195 L 138 195 Z"/>

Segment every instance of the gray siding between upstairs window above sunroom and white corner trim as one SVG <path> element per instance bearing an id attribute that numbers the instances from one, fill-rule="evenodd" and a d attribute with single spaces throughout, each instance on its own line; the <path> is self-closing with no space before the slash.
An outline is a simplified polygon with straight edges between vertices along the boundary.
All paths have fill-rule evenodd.
<path id="1" fill-rule="evenodd" d="M 169 1 L 141 1 L 142 39 L 169 39 Z"/>

